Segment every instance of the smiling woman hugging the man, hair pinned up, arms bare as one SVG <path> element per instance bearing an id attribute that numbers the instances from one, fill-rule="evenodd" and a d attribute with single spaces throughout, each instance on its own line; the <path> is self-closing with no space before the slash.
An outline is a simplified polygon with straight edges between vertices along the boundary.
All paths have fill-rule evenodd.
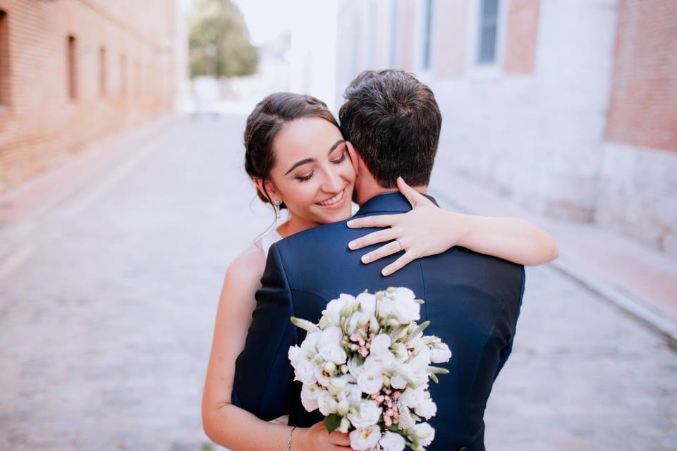
<path id="1" fill-rule="evenodd" d="M 263 421 L 233 405 L 231 392 L 235 362 L 245 345 L 269 247 L 301 230 L 350 218 L 354 152 L 327 106 L 314 97 L 271 94 L 247 118 L 245 171 L 260 199 L 272 204 L 276 217 L 280 209 L 288 209 L 288 220 L 245 249 L 226 271 L 202 395 L 202 424 L 214 443 L 233 451 L 349 449 L 347 434 L 329 434 L 322 422 L 310 428 L 292 428 L 284 419 Z M 413 209 L 355 221 L 350 226 L 390 227 L 386 229 L 389 233 L 372 233 L 346 243 L 355 250 L 390 242 L 365 254 L 365 264 L 404 251 L 384 268 L 384 276 L 413 259 L 440 254 L 453 246 L 523 265 L 544 264 L 557 256 L 554 240 L 527 221 L 451 213 L 401 179 L 398 189 Z"/>

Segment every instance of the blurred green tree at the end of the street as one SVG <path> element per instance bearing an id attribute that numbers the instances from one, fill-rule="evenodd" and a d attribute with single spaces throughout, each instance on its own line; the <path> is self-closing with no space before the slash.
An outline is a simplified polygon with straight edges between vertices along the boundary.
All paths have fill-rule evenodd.
<path id="1" fill-rule="evenodd" d="M 257 49 L 249 40 L 247 25 L 231 0 L 195 0 L 189 19 L 190 77 L 216 78 L 255 73 Z"/>

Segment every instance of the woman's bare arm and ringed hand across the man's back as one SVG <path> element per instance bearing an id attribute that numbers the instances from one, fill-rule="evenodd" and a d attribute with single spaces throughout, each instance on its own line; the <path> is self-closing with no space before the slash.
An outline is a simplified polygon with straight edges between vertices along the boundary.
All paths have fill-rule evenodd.
<path id="1" fill-rule="evenodd" d="M 389 242 L 362 256 L 365 263 L 405 250 L 405 254 L 384 268 L 384 276 L 414 259 L 441 254 L 453 246 L 522 265 L 539 265 L 557 258 L 559 252 L 554 239 L 528 221 L 452 213 L 439 209 L 401 178 L 398 187 L 412 204 L 411 211 L 365 216 L 348 222 L 351 228 L 387 227 L 349 243 L 348 247 L 355 250 Z"/>

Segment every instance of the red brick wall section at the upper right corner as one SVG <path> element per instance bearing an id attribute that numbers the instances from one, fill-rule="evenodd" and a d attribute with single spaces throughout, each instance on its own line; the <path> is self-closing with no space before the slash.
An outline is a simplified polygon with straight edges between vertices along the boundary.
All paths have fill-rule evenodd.
<path id="1" fill-rule="evenodd" d="M 677 151 L 676 55 L 676 1 L 619 1 L 606 140 Z"/>

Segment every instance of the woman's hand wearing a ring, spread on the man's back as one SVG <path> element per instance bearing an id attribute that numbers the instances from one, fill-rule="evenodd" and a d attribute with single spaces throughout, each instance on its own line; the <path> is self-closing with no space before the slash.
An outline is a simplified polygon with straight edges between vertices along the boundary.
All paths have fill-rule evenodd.
<path id="1" fill-rule="evenodd" d="M 468 228 L 465 215 L 440 209 L 430 199 L 407 185 L 401 177 L 397 179 L 397 187 L 411 204 L 410 211 L 401 214 L 364 216 L 348 221 L 350 228 L 384 228 L 348 244 L 350 249 L 357 250 L 387 242 L 386 245 L 364 254 L 362 263 L 369 264 L 404 251 L 396 261 L 382 269 L 384 276 L 389 276 L 415 259 L 441 254 L 457 245 Z"/>

